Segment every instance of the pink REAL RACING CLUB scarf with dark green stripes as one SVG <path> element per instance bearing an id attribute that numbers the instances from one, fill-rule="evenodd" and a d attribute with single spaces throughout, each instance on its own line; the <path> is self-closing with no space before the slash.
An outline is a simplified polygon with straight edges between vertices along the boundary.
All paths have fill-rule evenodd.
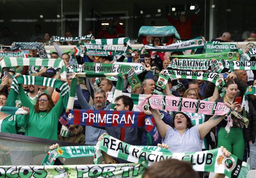
<path id="1" fill-rule="evenodd" d="M 197 99 L 179 98 L 175 96 L 153 95 L 151 98 L 144 99 L 138 109 L 142 112 L 153 109 L 190 112 L 206 115 L 224 115 L 231 112 L 222 102 L 202 101 Z"/>

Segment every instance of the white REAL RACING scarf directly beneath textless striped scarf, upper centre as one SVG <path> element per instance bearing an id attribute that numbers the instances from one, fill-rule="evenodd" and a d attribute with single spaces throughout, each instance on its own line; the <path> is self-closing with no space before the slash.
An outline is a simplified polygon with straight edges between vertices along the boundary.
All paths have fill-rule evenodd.
<path id="1" fill-rule="evenodd" d="M 100 44 L 90 44 L 90 43 L 84 43 L 85 44 L 85 53 L 88 50 L 94 50 L 94 51 L 104 51 L 104 52 L 115 52 L 115 53 L 128 53 L 131 54 L 132 50 L 129 49 L 127 46 L 110 46 L 110 45 L 100 45 Z"/>

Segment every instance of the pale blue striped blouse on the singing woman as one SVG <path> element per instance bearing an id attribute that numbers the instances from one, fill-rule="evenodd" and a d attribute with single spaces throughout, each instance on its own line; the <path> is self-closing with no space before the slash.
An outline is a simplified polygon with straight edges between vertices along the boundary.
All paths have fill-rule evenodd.
<path id="1" fill-rule="evenodd" d="M 182 136 L 171 126 L 168 126 L 163 143 L 169 145 L 172 153 L 191 153 L 202 151 L 203 140 L 200 139 L 198 125 L 187 128 Z"/>

